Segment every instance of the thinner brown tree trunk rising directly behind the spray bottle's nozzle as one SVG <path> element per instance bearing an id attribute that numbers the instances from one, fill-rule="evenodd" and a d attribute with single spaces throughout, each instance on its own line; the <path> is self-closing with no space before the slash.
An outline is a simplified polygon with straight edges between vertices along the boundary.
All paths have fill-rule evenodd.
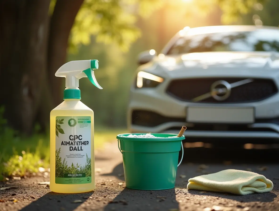
<path id="1" fill-rule="evenodd" d="M 48 77 L 54 106 L 62 101 L 62 83 L 55 72 L 66 62 L 68 38 L 76 14 L 84 0 L 57 0 L 50 21 L 48 49 Z"/>

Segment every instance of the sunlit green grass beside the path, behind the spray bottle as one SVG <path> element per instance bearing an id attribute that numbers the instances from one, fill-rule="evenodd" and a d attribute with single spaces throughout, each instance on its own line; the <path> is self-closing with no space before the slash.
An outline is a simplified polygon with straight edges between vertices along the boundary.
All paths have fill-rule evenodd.
<path id="1" fill-rule="evenodd" d="M 0 108 L 0 181 L 11 176 L 30 176 L 39 167 L 48 168 L 50 160 L 49 136 L 35 133 L 24 137 L 6 126 Z M 94 134 L 95 149 L 105 142 L 116 141 L 116 135 L 125 129 L 98 128 Z"/>

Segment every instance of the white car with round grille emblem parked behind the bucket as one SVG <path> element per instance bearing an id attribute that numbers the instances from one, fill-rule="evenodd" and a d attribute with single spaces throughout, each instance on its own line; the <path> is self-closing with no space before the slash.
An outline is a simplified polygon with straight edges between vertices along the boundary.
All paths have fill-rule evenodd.
<path id="1" fill-rule="evenodd" d="M 139 55 L 129 131 L 278 139 L 278 51 L 278 27 L 185 27 Z"/>

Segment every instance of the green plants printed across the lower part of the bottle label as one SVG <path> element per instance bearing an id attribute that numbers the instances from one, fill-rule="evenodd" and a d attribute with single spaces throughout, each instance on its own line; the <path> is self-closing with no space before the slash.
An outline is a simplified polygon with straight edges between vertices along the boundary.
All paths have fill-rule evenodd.
<path id="1" fill-rule="evenodd" d="M 62 162 L 62 158 L 60 157 L 61 149 L 56 150 L 55 153 L 55 176 L 56 177 L 64 177 L 64 174 L 82 174 L 85 173 L 85 176 L 91 176 L 91 158 L 89 158 L 86 154 L 86 164 L 84 166 L 78 165 L 78 163 L 71 164 L 71 166 L 67 165 L 67 161 L 64 158 Z"/>

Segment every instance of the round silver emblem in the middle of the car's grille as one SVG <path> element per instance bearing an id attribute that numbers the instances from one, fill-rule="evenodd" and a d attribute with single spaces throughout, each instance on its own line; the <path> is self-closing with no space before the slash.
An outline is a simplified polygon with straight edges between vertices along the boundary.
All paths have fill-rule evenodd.
<path id="1" fill-rule="evenodd" d="M 215 81 L 210 87 L 211 96 L 218 101 L 226 100 L 231 93 L 232 87 L 227 81 Z"/>

